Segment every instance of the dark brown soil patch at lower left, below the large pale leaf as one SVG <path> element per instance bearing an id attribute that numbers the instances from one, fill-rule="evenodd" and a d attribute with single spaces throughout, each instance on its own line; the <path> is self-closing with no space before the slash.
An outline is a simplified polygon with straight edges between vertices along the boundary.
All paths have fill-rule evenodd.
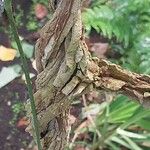
<path id="1" fill-rule="evenodd" d="M 26 88 L 20 79 L 0 89 L 0 150 L 23 150 L 30 143 L 31 137 L 25 132 L 25 126 L 17 127 L 24 112 L 16 118 L 12 111 L 14 104 L 24 102 L 26 98 Z"/>

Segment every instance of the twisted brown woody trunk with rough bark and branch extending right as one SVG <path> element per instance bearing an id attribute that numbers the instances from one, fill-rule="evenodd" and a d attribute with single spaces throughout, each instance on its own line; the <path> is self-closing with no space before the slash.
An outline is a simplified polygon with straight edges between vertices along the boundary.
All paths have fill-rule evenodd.
<path id="1" fill-rule="evenodd" d="M 69 106 L 93 88 L 125 94 L 145 106 L 150 103 L 148 75 L 129 72 L 89 53 L 81 21 L 82 0 L 62 0 L 57 8 L 55 5 L 35 49 L 38 76 L 34 98 L 43 150 L 65 149 Z M 34 136 L 29 102 L 26 109 L 27 131 Z"/>

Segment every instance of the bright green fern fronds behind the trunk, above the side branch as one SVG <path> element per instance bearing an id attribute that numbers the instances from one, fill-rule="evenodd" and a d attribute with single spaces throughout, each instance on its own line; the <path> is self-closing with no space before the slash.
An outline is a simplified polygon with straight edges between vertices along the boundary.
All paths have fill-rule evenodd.
<path id="1" fill-rule="evenodd" d="M 132 71 L 150 73 L 150 0 L 95 0 L 83 13 L 86 29 L 110 39 L 119 61 Z M 147 69 L 145 69 L 147 68 Z"/>

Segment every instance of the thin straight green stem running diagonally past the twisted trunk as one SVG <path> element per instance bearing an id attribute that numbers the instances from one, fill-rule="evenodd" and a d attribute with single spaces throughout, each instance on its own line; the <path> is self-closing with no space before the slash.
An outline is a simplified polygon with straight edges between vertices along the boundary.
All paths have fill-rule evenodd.
<path id="1" fill-rule="evenodd" d="M 36 141 L 37 141 L 38 150 L 42 150 L 41 143 L 40 143 L 38 119 L 37 119 L 37 115 L 36 115 L 36 107 L 35 107 L 34 96 L 33 96 L 33 92 L 32 92 L 32 83 L 31 83 L 31 79 L 29 76 L 28 64 L 26 61 L 26 57 L 25 57 L 23 49 L 22 49 L 22 45 L 21 45 L 21 42 L 20 42 L 20 39 L 18 36 L 17 27 L 16 27 L 15 20 L 13 17 L 11 1 L 12 0 L 5 0 L 5 10 L 7 12 L 7 16 L 8 16 L 10 25 L 11 25 L 13 36 L 14 36 L 14 39 L 17 43 L 18 50 L 19 50 L 20 57 L 21 57 L 21 61 L 23 64 L 22 68 L 23 68 L 23 71 L 24 71 L 24 74 L 26 77 L 26 82 L 27 82 L 27 89 L 28 89 L 28 94 L 29 94 L 30 103 L 31 103 L 33 124 L 34 124 L 34 129 L 35 129 L 35 134 L 36 134 Z"/>

